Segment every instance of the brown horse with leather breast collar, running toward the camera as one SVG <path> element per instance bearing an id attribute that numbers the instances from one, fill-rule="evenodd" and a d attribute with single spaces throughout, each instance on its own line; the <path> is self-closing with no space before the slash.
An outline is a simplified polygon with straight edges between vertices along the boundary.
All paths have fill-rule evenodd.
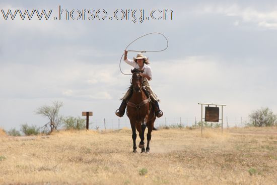
<path id="1" fill-rule="evenodd" d="M 127 115 L 130 119 L 130 124 L 132 128 L 132 140 L 133 140 L 133 152 L 136 152 L 136 131 L 138 131 L 141 142 L 138 145 L 139 148 L 142 149 L 142 152 L 148 153 L 150 151 L 150 140 L 151 133 L 154 128 L 154 121 L 156 119 L 154 108 L 146 96 L 146 92 L 143 88 L 143 71 L 134 69 L 131 70 L 132 79 L 131 79 L 131 87 L 132 88 L 132 96 L 127 103 Z M 147 147 L 145 150 L 144 146 L 144 132 L 146 127 L 148 128 L 147 133 Z"/>

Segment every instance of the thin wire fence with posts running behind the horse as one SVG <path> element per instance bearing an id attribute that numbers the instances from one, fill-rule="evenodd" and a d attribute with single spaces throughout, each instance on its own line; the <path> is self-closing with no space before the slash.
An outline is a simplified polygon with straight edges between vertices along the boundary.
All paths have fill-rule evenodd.
<path id="1" fill-rule="evenodd" d="M 171 127 L 171 126 L 182 126 L 182 127 L 196 127 L 200 122 L 199 117 L 160 117 L 155 120 L 154 126 L 159 127 Z M 244 117 L 228 117 L 223 118 L 223 128 L 231 127 L 247 127 L 249 125 L 249 118 Z M 221 125 L 219 122 L 209 122 L 213 125 Z M 130 122 L 127 116 L 121 118 L 92 118 L 89 123 L 89 128 L 93 130 L 104 130 L 104 129 L 122 129 L 131 128 Z"/>

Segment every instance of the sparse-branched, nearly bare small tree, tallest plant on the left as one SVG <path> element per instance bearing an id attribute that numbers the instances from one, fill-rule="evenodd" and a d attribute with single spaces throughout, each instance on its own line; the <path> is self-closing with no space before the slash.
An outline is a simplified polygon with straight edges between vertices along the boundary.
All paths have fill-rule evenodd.
<path id="1" fill-rule="evenodd" d="M 62 117 L 59 116 L 59 108 L 63 105 L 62 102 L 54 101 L 53 105 L 43 105 L 39 107 L 35 112 L 49 119 L 51 131 L 60 125 Z"/>

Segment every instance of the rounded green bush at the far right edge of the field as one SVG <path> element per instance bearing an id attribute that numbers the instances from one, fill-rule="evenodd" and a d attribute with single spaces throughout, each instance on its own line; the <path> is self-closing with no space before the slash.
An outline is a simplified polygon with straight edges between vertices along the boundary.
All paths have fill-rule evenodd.
<path id="1" fill-rule="evenodd" d="M 274 126 L 277 122 L 277 116 L 268 108 L 260 108 L 249 114 L 250 124 L 255 127 Z"/>

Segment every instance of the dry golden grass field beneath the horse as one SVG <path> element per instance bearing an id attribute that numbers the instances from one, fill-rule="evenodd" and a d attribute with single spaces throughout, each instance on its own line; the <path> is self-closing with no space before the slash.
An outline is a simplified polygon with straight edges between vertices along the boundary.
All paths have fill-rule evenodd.
<path id="1" fill-rule="evenodd" d="M 205 129 L 202 137 L 159 130 L 150 154 L 131 152 L 128 129 L 30 138 L 0 132 L 0 142 L 0 184 L 277 183 L 277 128 Z"/>

